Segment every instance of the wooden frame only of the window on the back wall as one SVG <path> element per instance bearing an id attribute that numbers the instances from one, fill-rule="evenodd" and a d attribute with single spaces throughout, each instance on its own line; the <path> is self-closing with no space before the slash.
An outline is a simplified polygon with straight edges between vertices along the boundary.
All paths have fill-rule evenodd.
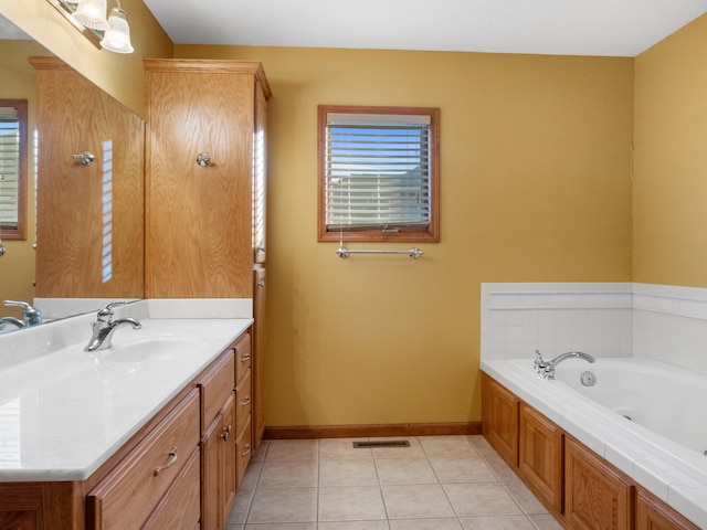
<path id="1" fill-rule="evenodd" d="M 327 231 L 326 223 L 326 135 L 329 114 L 421 115 L 430 117 L 430 224 L 420 230 L 383 232 L 377 230 Z M 356 105 L 319 105 L 317 119 L 317 241 L 339 242 L 407 242 L 437 243 L 440 241 L 440 109 L 433 107 L 391 107 Z"/>

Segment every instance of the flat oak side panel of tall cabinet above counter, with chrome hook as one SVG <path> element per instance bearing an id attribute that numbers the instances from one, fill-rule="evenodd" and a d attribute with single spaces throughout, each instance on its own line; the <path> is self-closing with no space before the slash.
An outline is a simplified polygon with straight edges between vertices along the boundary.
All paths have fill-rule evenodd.
<path id="1" fill-rule="evenodd" d="M 146 294 L 250 298 L 255 80 L 149 64 Z"/>

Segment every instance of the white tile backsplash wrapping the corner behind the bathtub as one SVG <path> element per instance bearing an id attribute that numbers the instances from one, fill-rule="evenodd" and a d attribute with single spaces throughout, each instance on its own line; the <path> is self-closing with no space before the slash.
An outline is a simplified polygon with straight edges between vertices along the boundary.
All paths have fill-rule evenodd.
<path id="1" fill-rule="evenodd" d="M 647 357 L 707 374 L 707 289 L 637 283 L 482 284 L 482 358 Z"/>

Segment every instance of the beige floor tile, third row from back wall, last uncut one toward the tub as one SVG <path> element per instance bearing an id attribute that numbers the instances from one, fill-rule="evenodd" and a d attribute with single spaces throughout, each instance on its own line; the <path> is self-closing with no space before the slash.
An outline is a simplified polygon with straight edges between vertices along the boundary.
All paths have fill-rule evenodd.
<path id="1" fill-rule="evenodd" d="M 500 483 L 445 484 L 458 517 L 520 515 L 520 508 Z"/>

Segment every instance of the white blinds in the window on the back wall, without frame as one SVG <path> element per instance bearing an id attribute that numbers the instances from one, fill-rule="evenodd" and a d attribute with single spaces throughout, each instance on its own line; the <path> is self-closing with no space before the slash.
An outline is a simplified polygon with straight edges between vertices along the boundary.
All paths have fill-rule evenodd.
<path id="1" fill-rule="evenodd" d="M 430 116 L 327 115 L 327 231 L 430 224 Z"/>

